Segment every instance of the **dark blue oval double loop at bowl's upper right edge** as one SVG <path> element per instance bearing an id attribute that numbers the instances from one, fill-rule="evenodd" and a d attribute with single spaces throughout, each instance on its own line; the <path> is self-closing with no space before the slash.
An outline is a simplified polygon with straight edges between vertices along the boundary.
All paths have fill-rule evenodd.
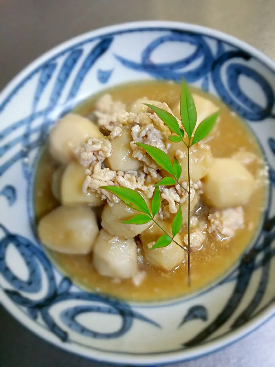
<path id="1" fill-rule="evenodd" d="M 268 81 L 260 75 L 256 70 L 249 68 L 248 66 L 231 63 L 226 69 L 228 87 L 225 87 L 221 77 L 221 68 L 224 64 L 231 59 L 241 58 L 248 61 L 251 56 L 244 51 L 228 51 L 221 54 L 221 56 L 213 62 L 212 65 L 212 82 L 216 88 L 221 99 L 235 110 L 241 117 L 250 121 L 261 121 L 266 117 L 272 116 L 272 108 L 274 106 L 274 92 L 268 83 Z M 265 94 L 266 106 L 262 108 L 256 102 L 247 97 L 238 85 L 239 76 L 245 75 L 254 80 Z M 232 98 L 231 94 L 234 96 Z M 245 107 L 236 102 L 241 101 Z"/>

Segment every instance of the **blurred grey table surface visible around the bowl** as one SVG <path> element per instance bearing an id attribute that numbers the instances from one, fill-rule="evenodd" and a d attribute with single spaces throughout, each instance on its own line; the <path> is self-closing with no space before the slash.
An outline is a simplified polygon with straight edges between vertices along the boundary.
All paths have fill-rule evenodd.
<path id="1" fill-rule="evenodd" d="M 275 59 L 275 0 L 0 0 L 0 90 L 49 48 L 98 27 L 138 20 L 209 26 Z M 1 301 L 1 300 L 0 300 Z M 275 318 L 239 342 L 182 367 L 274 367 Z M 0 306 L 1 367 L 102 366 L 31 334 Z"/>

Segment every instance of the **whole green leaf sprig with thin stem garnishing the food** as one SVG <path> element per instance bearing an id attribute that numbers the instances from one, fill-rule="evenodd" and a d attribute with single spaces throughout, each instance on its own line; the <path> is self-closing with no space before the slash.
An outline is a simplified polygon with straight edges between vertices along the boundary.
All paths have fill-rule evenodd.
<path id="1" fill-rule="evenodd" d="M 214 127 L 214 124 L 217 121 L 217 117 L 219 116 L 219 111 L 213 113 L 212 115 L 206 117 L 195 130 L 195 126 L 197 123 L 197 111 L 194 103 L 194 99 L 192 94 L 188 90 L 186 82 L 182 81 L 181 87 L 181 97 L 180 97 L 180 117 L 184 130 L 180 128 L 179 123 L 175 116 L 165 111 L 164 109 L 155 107 L 153 105 L 145 103 L 146 106 L 150 107 L 156 115 L 164 122 L 164 124 L 176 135 L 172 135 L 169 137 L 169 140 L 172 142 L 183 142 L 187 147 L 187 164 L 188 164 L 188 190 L 184 188 L 178 181 L 181 175 L 182 167 L 179 161 L 175 158 L 174 163 L 170 161 L 169 156 L 163 152 L 161 149 L 156 148 L 154 146 L 143 144 L 143 143 L 135 143 L 136 145 L 143 148 L 148 155 L 161 167 L 163 170 L 168 172 L 172 177 L 164 177 L 155 184 L 155 192 L 153 195 L 153 199 L 151 202 L 151 208 L 148 207 L 146 201 L 143 197 L 136 191 L 121 187 L 121 186 L 102 186 L 102 189 L 109 190 L 114 195 L 119 197 L 126 205 L 129 207 L 136 209 L 142 214 L 137 214 L 133 218 L 128 221 L 124 221 L 122 223 L 125 224 L 145 224 L 150 221 L 153 221 L 155 225 L 157 225 L 164 235 L 160 236 L 154 246 L 151 247 L 151 250 L 159 247 L 166 247 L 172 241 L 175 242 L 178 246 L 180 246 L 183 250 L 188 253 L 188 285 L 191 283 L 190 276 L 190 147 L 195 143 L 198 143 L 202 139 L 204 139 L 209 132 Z M 195 132 L 194 132 L 195 130 Z M 188 137 L 188 142 L 184 140 L 185 132 Z M 193 134 L 194 132 L 194 134 Z M 161 207 L 161 197 L 159 192 L 159 186 L 173 186 L 178 183 L 181 188 L 183 188 L 188 193 L 188 247 L 183 247 L 179 244 L 175 237 L 180 232 L 182 226 L 182 212 L 181 207 L 179 205 L 178 211 L 172 221 L 172 236 L 169 235 L 157 222 L 157 214 Z"/>

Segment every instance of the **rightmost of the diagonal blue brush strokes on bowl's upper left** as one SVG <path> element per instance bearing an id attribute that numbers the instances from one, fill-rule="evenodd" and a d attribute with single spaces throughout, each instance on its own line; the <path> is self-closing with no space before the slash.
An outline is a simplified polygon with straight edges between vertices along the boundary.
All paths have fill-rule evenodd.
<path id="1" fill-rule="evenodd" d="M 80 69 L 78 70 L 77 76 L 75 77 L 72 87 L 68 93 L 67 101 L 72 100 L 80 86 L 83 82 L 85 76 L 87 75 L 88 71 L 94 65 L 94 63 L 107 51 L 109 50 L 111 44 L 113 42 L 113 37 L 106 37 L 103 40 L 100 40 L 98 44 L 94 48 L 92 48 L 91 52 L 85 58 L 83 64 L 81 65 Z"/>

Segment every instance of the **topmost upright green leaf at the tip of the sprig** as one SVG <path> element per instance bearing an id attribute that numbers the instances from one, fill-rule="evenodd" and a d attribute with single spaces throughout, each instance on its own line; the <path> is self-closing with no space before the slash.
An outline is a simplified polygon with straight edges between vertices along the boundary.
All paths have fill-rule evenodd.
<path id="1" fill-rule="evenodd" d="M 180 117 L 190 143 L 192 132 L 194 131 L 197 122 L 197 111 L 192 94 L 188 90 L 187 84 L 184 80 L 182 81 L 181 86 Z"/>

